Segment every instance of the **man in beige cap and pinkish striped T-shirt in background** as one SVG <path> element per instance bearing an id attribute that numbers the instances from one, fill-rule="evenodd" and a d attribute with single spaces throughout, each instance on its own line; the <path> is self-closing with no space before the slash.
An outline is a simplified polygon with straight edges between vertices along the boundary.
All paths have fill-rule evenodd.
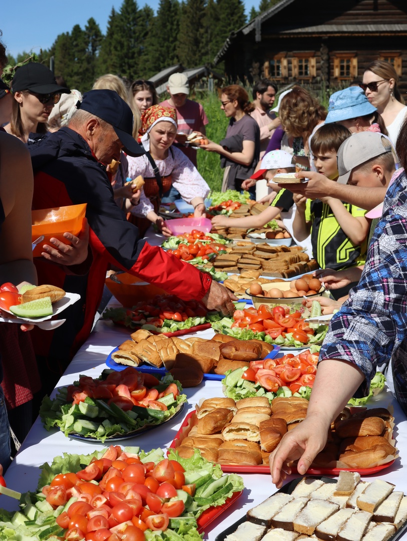
<path id="1" fill-rule="evenodd" d="M 179 148 L 189 157 L 191 162 L 197 167 L 196 149 L 182 146 L 186 141 L 186 136 L 192 131 L 200 131 L 206 135 L 206 124 L 209 123 L 201 103 L 188 99 L 189 82 L 188 77 L 183 73 L 173 73 L 167 84 L 167 91 L 170 95 L 169 100 L 164 100 L 161 105 L 164 107 L 175 107 L 177 111 L 178 131 L 184 135 L 177 135 Z"/>

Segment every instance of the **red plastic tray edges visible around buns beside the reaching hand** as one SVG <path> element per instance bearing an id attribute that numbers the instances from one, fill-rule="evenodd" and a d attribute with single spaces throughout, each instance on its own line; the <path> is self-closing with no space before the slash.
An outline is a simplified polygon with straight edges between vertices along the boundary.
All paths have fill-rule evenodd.
<path id="1" fill-rule="evenodd" d="M 196 411 L 191 411 L 186 415 L 185 419 L 183 420 L 182 425 L 179 427 L 178 432 L 175 435 L 174 440 L 172 441 L 170 448 L 174 449 L 174 451 L 177 450 L 178 447 L 178 441 L 181 439 L 182 431 L 185 427 L 188 426 L 189 420 L 191 419 L 192 415 L 195 415 Z M 393 464 L 394 460 L 391 460 L 390 462 L 386 464 L 382 464 L 381 466 L 375 466 L 373 468 L 310 468 L 306 473 L 309 475 L 339 475 L 339 472 L 341 471 L 347 471 L 347 472 L 358 472 L 362 476 L 363 475 L 373 475 L 379 471 L 382 471 L 388 467 L 390 467 Z M 221 464 L 222 471 L 224 472 L 231 472 L 231 473 L 270 473 L 270 467 L 267 464 L 261 464 L 259 466 L 239 466 L 237 464 Z M 292 467 L 292 473 L 298 473 L 296 467 Z"/>

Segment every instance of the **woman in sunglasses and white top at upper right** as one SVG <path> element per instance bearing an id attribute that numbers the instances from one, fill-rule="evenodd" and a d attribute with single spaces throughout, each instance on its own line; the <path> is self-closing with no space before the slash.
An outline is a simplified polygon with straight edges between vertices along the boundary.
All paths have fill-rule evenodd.
<path id="1" fill-rule="evenodd" d="M 369 102 L 382 116 L 394 145 L 407 113 L 397 83 L 398 75 L 393 66 L 384 60 L 375 60 L 366 68 L 360 85 Z"/>

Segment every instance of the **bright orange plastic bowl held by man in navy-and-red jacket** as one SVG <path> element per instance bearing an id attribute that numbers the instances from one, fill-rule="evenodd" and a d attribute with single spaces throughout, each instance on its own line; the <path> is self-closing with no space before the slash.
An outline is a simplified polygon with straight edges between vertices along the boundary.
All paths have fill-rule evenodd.
<path id="1" fill-rule="evenodd" d="M 51 237 L 70 244 L 63 234 L 72 233 L 78 235 L 83 226 L 83 219 L 86 212 L 86 203 L 73 204 L 69 207 L 44 208 L 42 210 L 31 211 L 31 239 L 34 241 L 39 236 L 44 235 L 44 240 L 40 242 L 32 252 L 35 258 L 41 256 L 43 245 L 49 244 Z"/>

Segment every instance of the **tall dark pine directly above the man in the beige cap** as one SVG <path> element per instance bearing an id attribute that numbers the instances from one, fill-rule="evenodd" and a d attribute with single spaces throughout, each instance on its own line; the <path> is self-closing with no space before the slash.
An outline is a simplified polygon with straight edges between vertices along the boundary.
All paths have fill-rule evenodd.
<path id="1" fill-rule="evenodd" d="M 205 0 L 186 0 L 181 6 L 177 51 L 184 67 L 194 68 L 205 56 Z"/>

